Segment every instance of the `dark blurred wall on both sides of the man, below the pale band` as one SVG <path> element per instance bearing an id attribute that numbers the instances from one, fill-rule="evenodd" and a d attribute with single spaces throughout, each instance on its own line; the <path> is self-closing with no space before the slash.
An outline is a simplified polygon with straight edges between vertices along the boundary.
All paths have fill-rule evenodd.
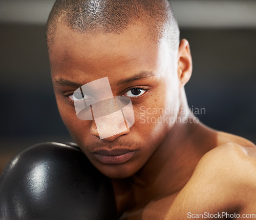
<path id="1" fill-rule="evenodd" d="M 182 29 L 194 71 L 185 86 L 206 125 L 256 142 L 256 30 Z M 0 161 L 42 141 L 69 141 L 51 84 L 44 26 L 0 23 Z M 1 172 L 0 165 L 0 172 Z"/>

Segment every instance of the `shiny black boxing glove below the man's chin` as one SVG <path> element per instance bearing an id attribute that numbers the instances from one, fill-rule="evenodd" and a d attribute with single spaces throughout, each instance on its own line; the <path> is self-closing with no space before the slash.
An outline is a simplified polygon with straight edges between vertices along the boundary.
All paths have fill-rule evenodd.
<path id="1" fill-rule="evenodd" d="M 75 144 L 36 144 L 0 176 L 0 219 L 117 219 L 111 180 Z"/>

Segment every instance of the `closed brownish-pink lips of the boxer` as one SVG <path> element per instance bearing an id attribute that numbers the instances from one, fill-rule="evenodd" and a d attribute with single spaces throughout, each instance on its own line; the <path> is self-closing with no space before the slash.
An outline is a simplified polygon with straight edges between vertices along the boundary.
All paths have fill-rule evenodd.
<path id="1" fill-rule="evenodd" d="M 111 151 L 99 150 L 93 152 L 93 155 L 101 162 L 105 164 L 120 164 L 130 160 L 135 151 L 126 149 L 114 149 Z"/>

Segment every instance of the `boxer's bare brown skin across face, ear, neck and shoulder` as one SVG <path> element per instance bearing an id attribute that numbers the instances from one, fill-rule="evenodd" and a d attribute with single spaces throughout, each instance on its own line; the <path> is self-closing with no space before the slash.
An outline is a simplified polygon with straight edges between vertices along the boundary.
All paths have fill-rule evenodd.
<path id="1" fill-rule="evenodd" d="M 186 40 L 174 52 L 165 39 L 152 37 L 143 23 L 121 34 L 81 34 L 58 24 L 49 56 L 60 115 L 92 164 L 112 179 L 120 219 L 187 219 L 188 212 L 255 213 L 255 146 L 193 120 L 184 92 L 192 72 Z M 72 94 L 79 85 L 103 77 L 108 77 L 114 95 L 131 97 L 133 88 L 141 93 L 131 97 L 134 125 L 100 139 L 94 120 L 77 118 Z M 173 123 L 142 123 L 141 107 L 178 111 L 165 113 L 175 119 Z M 189 118 L 191 123 L 184 123 Z M 94 156 L 96 150 L 113 149 L 135 153 L 117 164 L 102 163 Z"/>

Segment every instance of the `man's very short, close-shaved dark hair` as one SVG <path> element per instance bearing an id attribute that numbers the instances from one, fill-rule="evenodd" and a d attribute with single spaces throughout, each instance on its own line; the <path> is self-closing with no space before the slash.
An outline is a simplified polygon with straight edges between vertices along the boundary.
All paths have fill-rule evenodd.
<path id="1" fill-rule="evenodd" d="M 179 28 L 167 0 L 57 0 L 47 21 L 48 47 L 60 22 L 81 33 L 121 33 L 137 21 L 146 21 L 158 36 L 165 33 L 172 49 L 177 49 Z"/>

